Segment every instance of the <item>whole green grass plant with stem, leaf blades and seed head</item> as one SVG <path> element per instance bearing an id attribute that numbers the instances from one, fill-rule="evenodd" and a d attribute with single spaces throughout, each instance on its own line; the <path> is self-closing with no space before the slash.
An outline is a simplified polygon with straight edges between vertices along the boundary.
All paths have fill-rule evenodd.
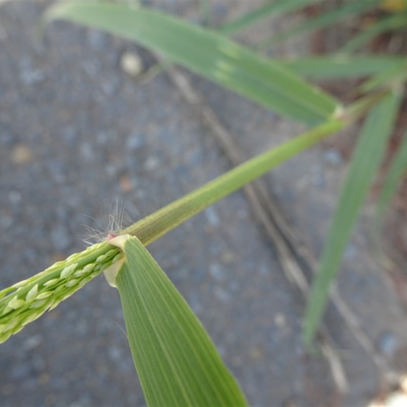
<path id="1" fill-rule="evenodd" d="M 405 56 L 353 56 L 351 52 L 384 30 L 405 27 L 405 11 L 378 21 L 334 56 L 272 60 L 226 35 L 278 13 L 319 3 L 271 2 L 217 30 L 144 8 L 138 2 L 63 1 L 47 10 L 44 24 L 63 19 L 135 41 L 164 55 L 171 63 L 305 123 L 309 130 L 121 230 L 120 236 L 72 254 L 0 291 L 0 342 L 105 272 L 108 282 L 120 293 L 133 360 L 149 405 L 247 405 L 209 336 L 146 246 L 276 165 L 366 116 L 305 312 L 304 339 L 308 344 L 312 342 L 346 243 L 383 161 L 407 80 Z M 357 17 L 379 4 L 378 0 L 347 3 L 265 39 L 260 45 L 269 47 L 293 35 Z M 210 21 L 208 4 L 201 2 L 200 6 L 205 20 Z M 336 97 L 302 76 L 369 78 L 358 89 L 359 99 L 343 106 Z M 390 165 L 379 199 L 379 219 L 407 166 L 406 137 Z"/>

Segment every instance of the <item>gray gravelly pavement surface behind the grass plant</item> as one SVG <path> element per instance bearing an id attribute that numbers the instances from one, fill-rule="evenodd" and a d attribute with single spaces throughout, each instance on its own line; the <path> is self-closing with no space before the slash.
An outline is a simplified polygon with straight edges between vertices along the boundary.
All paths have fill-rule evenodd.
<path id="1" fill-rule="evenodd" d="M 121 71 L 124 51 L 138 51 L 148 65 L 146 51 L 64 22 L 36 42 L 45 6 L 12 1 L 0 9 L 0 288 L 82 250 L 83 225 L 103 230 L 103 211 L 118 198 L 135 219 L 229 168 L 165 75 L 141 85 Z M 193 2 L 164 6 L 196 11 Z M 224 4 L 216 11 L 227 17 Z M 203 79 L 194 77 L 194 85 L 247 157 L 302 129 Z M 320 146 L 266 177 L 316 255 L 344 170 L 338 152 Z M 406 316 L 369 257 L 365 236 L 361 224 L 339 286 L 392 361 L 407 348 Z M 241 192 L 151 251 L 251 405 L 337 405 L 326 362 L 308 356 L 301 343 L 298 295 Z M 351 384 L 340 403 L 364 405 L 379 391 L 379 375 L 335 310 L 328 319 Z M 119 295 L 100 276 L 0 346 L 0 405 L 143 405 L 123 330 Z"/>

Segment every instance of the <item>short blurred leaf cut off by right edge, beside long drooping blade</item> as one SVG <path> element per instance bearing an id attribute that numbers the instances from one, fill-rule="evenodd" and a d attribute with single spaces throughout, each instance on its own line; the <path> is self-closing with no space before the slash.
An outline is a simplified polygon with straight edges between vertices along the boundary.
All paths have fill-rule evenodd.
<path id="1" fill-rule="evenodd" d="M 389 205 L 391 198 L 397 191 L 400 182 L 407 171 L 407 131 L 400 145 L 397 147 L 397 152 L 391 161 L 390 168 L 387 172 L 387 177 L 383 183 L 383 187 L 377 200 L 376 217 L 381 220 L 386 207 Z"/>

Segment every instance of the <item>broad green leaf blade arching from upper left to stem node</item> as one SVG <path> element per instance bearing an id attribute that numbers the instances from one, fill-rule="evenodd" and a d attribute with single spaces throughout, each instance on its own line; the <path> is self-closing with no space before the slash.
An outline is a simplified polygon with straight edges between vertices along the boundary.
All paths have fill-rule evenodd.
<path id="1" fill-rule="evenodd" d="M 180 19 L 143 8 L 93 1 L 56 3 L 45 21 L 65 19 L 99 28 L 164 54 L 170 61 L 307 124 L 325 121 L 339 102 L 278 62 Z"/>

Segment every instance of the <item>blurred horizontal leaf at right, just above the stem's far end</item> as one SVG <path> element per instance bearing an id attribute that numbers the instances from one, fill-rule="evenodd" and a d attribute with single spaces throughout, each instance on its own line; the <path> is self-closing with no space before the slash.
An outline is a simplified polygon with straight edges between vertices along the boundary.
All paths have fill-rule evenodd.
<path id="1" fill-rule="evenodd" d="M 407 64 L 401 56 L 311 56 L 283 60 L 287 68 L 299 75 L 315 79 L 357 78 L 379 74 L 400 64 Z"/>

